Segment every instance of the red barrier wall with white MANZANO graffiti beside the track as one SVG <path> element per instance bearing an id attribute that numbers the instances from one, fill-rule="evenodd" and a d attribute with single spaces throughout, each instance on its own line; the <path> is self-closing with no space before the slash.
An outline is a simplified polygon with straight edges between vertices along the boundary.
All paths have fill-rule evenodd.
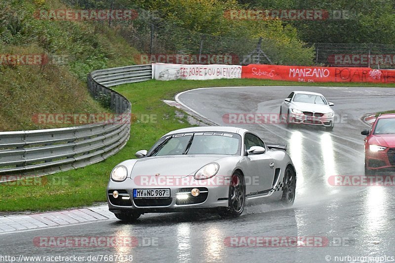
<path id="1" fill-rule="evenodd" d="M 242 66 L 241 78 L 260 78 L 298 82 L 371 82 L 395 83 L 395 70 L 370 67 L 325 66 Z"/>

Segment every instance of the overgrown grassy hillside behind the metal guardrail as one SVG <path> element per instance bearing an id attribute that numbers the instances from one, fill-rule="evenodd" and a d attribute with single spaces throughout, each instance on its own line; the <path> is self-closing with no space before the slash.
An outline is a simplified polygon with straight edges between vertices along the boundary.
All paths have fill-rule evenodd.
<path id="1" fill-rule="evenodd" d="M 41 113 L 110 111 L 91 98 L 86 75 L 133 65 L 137 51 L 99 22 L 34 17 L 37 10 L 65 8 L 58 0 L 0 2 L 0 131 L 74 126 L 38 123 Z"/>

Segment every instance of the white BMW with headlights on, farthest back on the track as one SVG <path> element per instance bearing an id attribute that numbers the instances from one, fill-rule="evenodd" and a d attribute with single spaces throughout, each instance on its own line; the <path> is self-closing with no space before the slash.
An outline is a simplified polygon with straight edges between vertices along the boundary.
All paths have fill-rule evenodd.
<path id="1" fill-rule="evenodd" d="M 308 124 L 326 127 L 332 131 L 335 112 L 331 109 L 334 104 L 326 101 L 320 93 L 294 91 L 282 101 L 280 117 L 285 118 L 288 125 Z"/>

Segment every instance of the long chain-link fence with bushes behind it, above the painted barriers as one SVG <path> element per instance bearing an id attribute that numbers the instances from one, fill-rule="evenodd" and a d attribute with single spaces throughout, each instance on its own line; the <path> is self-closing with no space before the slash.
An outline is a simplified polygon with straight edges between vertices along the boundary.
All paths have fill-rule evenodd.
<path id="1" fill-rule="evenodd" d="M 363 66 L 395 68 L 395 45 L 306 43 L 299 56 L 275 39 L 234 38 L 193 32 L 122 0 L 63 0 L 72 8 L 124 10 L 133 8 L 134 19 L 105 20 L 142 55 L 137 64 L 174 62 L 189 64 L 278 64 L 319 66 Z M 285 50 L 287 49 L 287 50 Z M 225 56 L 225 61 L 224 61 Z M 181 61 L 178 58 L 182 58 Z M 185 60 L 187 58 L 187 61 Z"/>

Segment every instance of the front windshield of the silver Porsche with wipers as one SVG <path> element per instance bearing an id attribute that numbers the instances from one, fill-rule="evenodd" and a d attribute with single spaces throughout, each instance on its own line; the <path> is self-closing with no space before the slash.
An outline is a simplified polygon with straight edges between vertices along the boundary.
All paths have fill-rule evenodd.
<path id="1" fill-rule="evenodd" d="M 182 154 L 239 155 L 240 135 L 232 132 L 187 132 L 162 137 L 149 156 Z"/>

